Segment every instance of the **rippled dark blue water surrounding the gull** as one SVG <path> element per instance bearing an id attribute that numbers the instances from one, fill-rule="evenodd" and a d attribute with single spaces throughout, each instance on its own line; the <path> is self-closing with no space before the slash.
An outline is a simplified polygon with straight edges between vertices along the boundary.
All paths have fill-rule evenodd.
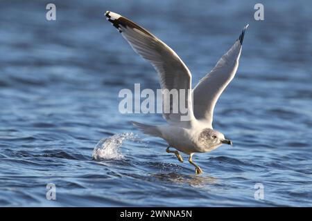
<path id="1" fill-rule="evenodd" d="M 312 206 L 311 1 L 264 1 L 264 21 L 247 0 L 53 3 L 56 21 L 45 1 L 0 2 L 1 206 Z M 171 46 L 193 85 L 250 23 L 214 116 L 234 147 L 194 155 L 202 175 L 128 123 L 161 115 L 119 113 L 119 90 L 159 84 L 106 10 Z M 107 138 L 105 160 L 92 160 Z"/>

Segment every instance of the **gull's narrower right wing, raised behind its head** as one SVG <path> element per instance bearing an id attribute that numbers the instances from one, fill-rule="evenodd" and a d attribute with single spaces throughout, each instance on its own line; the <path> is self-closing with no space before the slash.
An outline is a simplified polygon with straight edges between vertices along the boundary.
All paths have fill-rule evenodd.
<path id="1" fill-rule="evenodd" d="M 239 57 L 241 56 L 241 47 L 245 30 L 236 40 L 232 48 L 223 55 L 214 69 L 203 77 L 193 89 L 193 111 L 196 119 L 205 121 L 212 128 L 214 115 L 214 106 L 221 93 L 234 78 L 236 70 L 239 67 Z"/>

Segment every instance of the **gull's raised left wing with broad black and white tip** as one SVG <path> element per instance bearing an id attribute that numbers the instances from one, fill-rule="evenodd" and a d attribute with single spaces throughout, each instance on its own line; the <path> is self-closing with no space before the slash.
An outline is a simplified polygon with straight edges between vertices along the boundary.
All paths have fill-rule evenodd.
<path id="1" fill-rule="evenodd" d="M 177 102 L 180 98 L 171 99 L 166 104 L 164 104 L 163 99 L 164 119 L 170 124 L 182 123 L 180 122 L 182 116 L 189 116 L 189 120 L 184 122 L 195 119 L 191 102 L 191 73 L 180 57 L 164 42 L 133 21 L 114 12 L 107 11 L 105 16 L 121 32 L 121 35 L 128 41 L 133 50 L 154 66 L 159 75 L 160 86 L 163 91 L 164 89 L 169 91 L 172 89 L 185 90 L 186 93 L 182 99 L 184 99 L 187 112 L 175 108 L 178 107 Z M 165 106 L 166 109 L 164 109 Z"/>

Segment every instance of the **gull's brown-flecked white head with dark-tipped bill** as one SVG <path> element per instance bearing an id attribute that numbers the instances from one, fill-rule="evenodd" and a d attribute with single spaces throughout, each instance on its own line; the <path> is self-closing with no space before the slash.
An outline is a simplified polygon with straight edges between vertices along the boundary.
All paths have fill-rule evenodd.
<path id="1" fill-rule="evenodd" d="M 222 133 L 211 128 L 205 128 L 198 136 L 198 142 L 205 148 L 216 148 L 222 144 L 232 145 L 232 141 L 226 139 Z"/>

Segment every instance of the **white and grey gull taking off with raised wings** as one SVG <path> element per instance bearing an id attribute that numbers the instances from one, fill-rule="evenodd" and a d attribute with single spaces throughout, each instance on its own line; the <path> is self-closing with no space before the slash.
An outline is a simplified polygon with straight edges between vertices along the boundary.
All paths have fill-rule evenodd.
<path id="1" fill-rule="evenodd" d="M 159 75 L 162 90 L 191 90 L 191 93 L 187 93 L 183 98 L 189 114 L 187 120 L 182 120 L 185 116 L 182 111 L 177 111 L 177 113 L 169 111 L 162 113 L 168 124 L 156 126 L 139 122 L 132 122 L 132 124 L 143 133 L 164 139 L 168 143 L 166 152 L 174 153 L 180 162 L 183 162 L 180 152 L 189 155 L 189 163 L 195 166 L 195 173 L 202 173 L 202 169 L 192 160 L 194 153 L 213 151 L 222 144 L 232 146 L 231 140 L 212 128 L 212 121 L 214 106 L 239 67 L 239 57 L 248 25 L 243 28 L 234 45 L 218 60 L 210 73 L 203 77 L 192 90 L 191 72 L 180 57 L 163 41 L 121 15 L 107 11 L 105 16 L 128 41 L 132 49 L 150 61 Z M 162 102 L 164 105 L 164 100 Z M 169 105 L 170 110 L 173 110 L 173 105 L 176 104 L 170 102 Z"/>

